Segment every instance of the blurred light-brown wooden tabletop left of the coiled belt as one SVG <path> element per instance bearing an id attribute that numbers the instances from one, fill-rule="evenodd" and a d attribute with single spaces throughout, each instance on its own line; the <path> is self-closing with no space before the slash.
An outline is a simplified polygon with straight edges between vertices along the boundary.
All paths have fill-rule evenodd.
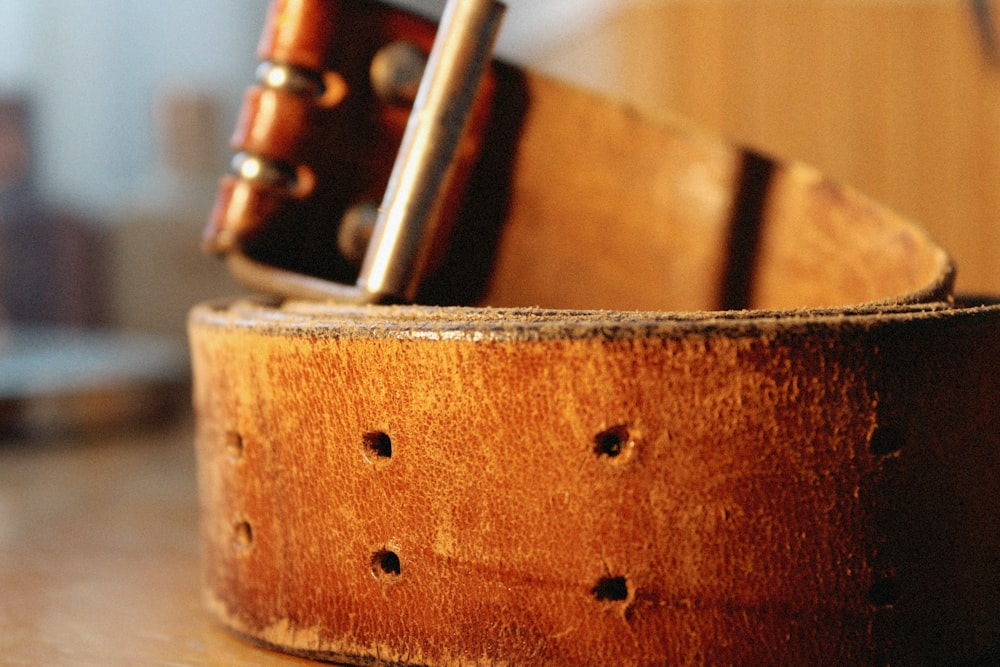
<path id="1" fill-rule="evenodd" d="M 192 432 L 0 440 L 0 665 L 314 664 L 202 609 Z"/>

